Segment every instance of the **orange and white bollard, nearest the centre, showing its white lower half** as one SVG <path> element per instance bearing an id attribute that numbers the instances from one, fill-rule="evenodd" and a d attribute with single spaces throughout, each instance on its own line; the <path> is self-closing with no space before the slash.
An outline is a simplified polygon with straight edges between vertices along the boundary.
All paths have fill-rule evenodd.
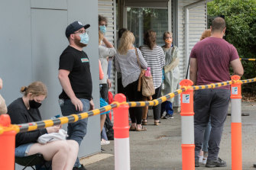
<path id="1" fill-rule="evenodd" d="M 115 95 L 115 101 L 126 101 L 125 95 Z M 115 170 L 130 170 L 129 106 L 122 104 L 114 108 Z"/>

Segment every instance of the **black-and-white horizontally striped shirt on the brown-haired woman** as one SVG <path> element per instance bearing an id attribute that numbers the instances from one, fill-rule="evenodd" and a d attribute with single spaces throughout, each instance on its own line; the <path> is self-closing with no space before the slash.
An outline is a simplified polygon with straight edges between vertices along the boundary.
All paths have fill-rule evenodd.
<path id="1" fill-rule="evenodd" d="M 154 46 L 151 50 L 148 46 L 141 47 L 141 53 L 147 62 L 147 66 L 151 68 L 153 76 L 154 88 L 159 88 L 162 84 L 162 69 L 164 67 L 164 51 L 160 46 Z"/>

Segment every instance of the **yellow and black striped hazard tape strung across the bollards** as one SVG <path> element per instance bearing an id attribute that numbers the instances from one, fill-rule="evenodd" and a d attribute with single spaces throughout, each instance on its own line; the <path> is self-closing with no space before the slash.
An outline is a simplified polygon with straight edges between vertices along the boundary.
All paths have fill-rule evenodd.
<path id="1" fill-rule="evenodd" d="M 37 130 L 37 129 L 46 128 L 46 127 L 52 127 L 54 125 L 60 125 L 64 123 L 73 123 L 73 122 L 76 122 L 77 120 L 82 120 L 87 117 L 92 117 L 97 114 L 110 111 L 113 108 L 119 107 L 122 104 L 128 104 L 129 107 L 156 106 L 157 104 L 163 103 L 164 101 L 167 101 L 170 98 L 173 98 L 174 96 L 180 95 L 180 93 L 182 93 L 183 91 L 186 91 L 189 88 L 193 88 L 193 90 L 216 88 L 216 87 L 222 87 L 225 85 L 232 85 L 235 82 L 241 82 L 241 83 L 256 82 L 256 78 L 246 79 L 246 80 L 237 80 L 237 81 L 231 80 L 227 82 L 217 82 L 217 83 L 212 83 L 210 85 L 195 85 L 195 86 L 186 86 L 186 87 L 183 86 L 177 91 L 171 92 L 160 98 L 154 99 L 153 101 L 131 101 L 131 102 L 122 102 L 122 103 L 118 103 L 117 101 L 114 101 L 112 104 L 109 104 L 107 106 L 100 107 L 99 109 L 95 109 L 92 111 L 83 112 L 81 114 L 71 114 L 70 116 L 59 117 L 53 120 L 41 120 L 37 122 L 23 123 L 18 125 L 11 124 L 9 127 L 0 127 L 0 134 L 10 130 L 15 130 L 17 133 L 21 133 L 21 132 L 28 132 L 31 130 Z"/>

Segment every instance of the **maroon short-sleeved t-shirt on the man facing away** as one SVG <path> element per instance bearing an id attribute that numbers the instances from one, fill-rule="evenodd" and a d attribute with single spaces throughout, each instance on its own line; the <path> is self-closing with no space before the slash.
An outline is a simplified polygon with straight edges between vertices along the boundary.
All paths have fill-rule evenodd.
<path id="1" fill-rule="evenodd" d="M 238 59 L 235 47 L 222 38 L 207 37 L 193 47 L 191 58 L 196 58 L 196 85 L 209 85 L 230 80 L 229 63 Z M 229 89 L 228 86 L 221 88 Z"/>

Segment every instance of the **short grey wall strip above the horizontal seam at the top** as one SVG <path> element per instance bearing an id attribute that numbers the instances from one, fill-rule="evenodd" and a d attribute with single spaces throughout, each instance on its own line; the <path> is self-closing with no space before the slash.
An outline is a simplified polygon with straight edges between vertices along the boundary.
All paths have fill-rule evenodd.
<path id="1" fill-rule="evenodd" d="M 67 0 L 31 0 L 31 8 L 67 9 Z"/>

